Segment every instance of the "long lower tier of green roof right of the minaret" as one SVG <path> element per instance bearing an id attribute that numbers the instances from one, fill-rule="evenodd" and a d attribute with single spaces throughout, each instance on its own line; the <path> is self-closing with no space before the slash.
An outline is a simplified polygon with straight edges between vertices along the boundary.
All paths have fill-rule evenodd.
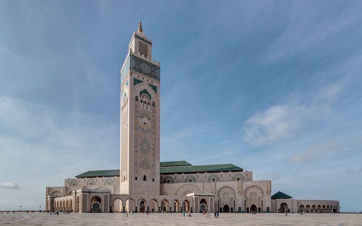
<path id="1" fill-rule="evenodd" d="M 177 174 L 177 173 L 204 173 L 220 171 L 242 171 L 240 167 L 233 164 L 202 165 L 202 166 L 174 166 L 161 167 L 160 174 Z"/>

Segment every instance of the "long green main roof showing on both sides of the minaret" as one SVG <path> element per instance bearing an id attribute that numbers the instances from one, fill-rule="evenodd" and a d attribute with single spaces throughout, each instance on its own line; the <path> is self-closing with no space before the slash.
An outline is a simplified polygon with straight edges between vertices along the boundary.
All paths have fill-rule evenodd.
<path id="1" fill-rule="evenodd" d="M 192 174 L 192 173 L 205 173 L 205 172 L 220 172 L 220 171 L 243 171 L 242 168 L 233 164 L 217 164 L 217 165 L 201 165 L 192 166 L 187 161 L 172 161 L 160 162 L 160 174 Z M 79 174 L 75 177 L 102 177 L 102 176 L 120 176 L 120 170 L 96 170 L 87 171 L 86 173 Z"/>

